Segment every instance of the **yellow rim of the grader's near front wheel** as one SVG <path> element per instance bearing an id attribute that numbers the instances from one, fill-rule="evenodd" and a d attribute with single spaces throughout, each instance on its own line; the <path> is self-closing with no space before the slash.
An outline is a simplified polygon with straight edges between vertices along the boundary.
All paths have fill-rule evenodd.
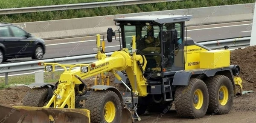
<path id="1" fill-rule="evenodd" d="M 107 102 L 104 109 L 104 117 L 108 123 L 111 123 L 116 115 L 116 108 L 113 102 Z"/>

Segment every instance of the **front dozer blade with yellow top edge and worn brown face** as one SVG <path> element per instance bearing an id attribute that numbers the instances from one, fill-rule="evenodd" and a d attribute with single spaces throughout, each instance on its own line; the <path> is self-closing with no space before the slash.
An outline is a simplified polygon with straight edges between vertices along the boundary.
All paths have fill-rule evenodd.
<path id="1" fill-rule="evenodd" d="M 20 110 L 18 123 L 90 123 L 87 109 L 58 109 L 14 106 Z"/>

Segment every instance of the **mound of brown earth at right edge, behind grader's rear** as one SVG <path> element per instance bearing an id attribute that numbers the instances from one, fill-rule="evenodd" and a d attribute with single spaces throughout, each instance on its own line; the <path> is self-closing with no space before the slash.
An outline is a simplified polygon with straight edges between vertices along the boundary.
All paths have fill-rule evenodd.
<path id="1" fill-rule="evenodd" d="M 256 91 L 256 46 L 236 49 L 230 54 L 230 64 L 240 66 L 239 77 L 244 90 Z"/>

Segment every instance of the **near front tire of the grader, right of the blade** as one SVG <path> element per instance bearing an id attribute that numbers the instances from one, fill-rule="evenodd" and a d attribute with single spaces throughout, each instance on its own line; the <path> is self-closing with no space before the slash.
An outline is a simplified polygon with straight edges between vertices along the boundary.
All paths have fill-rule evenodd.
<path id="1" fill-rule="evenodd" d="M 112 102 L 115 106 L 115 117 L 113 121 L 105 120 L 105 105 Z M 118 95 L 109 90 L 98 90 L 91 92 L 84 105 L 85 109 L 90 110 L 91 123 L 121 123 L 122 106 Z M 113 113 L 113 112 L 111 112 Z"/>

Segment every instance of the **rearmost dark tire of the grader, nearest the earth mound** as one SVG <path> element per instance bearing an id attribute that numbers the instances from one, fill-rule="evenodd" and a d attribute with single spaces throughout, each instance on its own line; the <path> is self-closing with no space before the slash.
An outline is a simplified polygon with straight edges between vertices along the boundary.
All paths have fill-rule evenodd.
<path id="1" fill-rule="evenodd" d="M 206 85 L 209 90 L 209 107 L 207 114 L 227 114 L 233 106 L 234 90 L 231 80 L 224 75 L 215 75 L 206 80 Z M 222 86 L 226 86 L 228 97 L 227 103 L 224 106 L 219 101 L 219 90 Z M 225 97 L 223 97 L 225 99 Z"/>

